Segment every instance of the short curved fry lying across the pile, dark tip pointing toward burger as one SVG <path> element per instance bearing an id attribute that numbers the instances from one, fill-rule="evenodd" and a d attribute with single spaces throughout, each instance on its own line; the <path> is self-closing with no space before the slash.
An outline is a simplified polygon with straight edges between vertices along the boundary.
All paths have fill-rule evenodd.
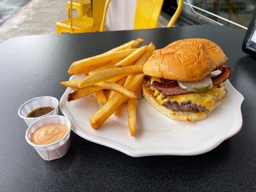
<path id="1" fill-rule="evenodd" d="M 127 96 L 128 98 L 131 98 L 131 99 L 141 99 L 142 96 L 133 92 L 133 91 L 130 91 L 129 89 L 126 89 L 125 87 L 119 85 L 119 84 L 116 84 L 116 83 L 112 83 L 112 82 L 100 82 L 98 84 L 93 84 L 91 85 L 92 88 L 102 88 L 102 89 L 110 89 L 112 91 L 115 91 L 117 93 L 120 93 L 122 94 L 123 96 Z M 103 91 L 102 91 L 103 93 Z M 104 95 L 105 96 L 105 95 Z M 106 97 L 105 97 L 106 98 Z M 106 99 L 107 100 L 107 99 Z"/>

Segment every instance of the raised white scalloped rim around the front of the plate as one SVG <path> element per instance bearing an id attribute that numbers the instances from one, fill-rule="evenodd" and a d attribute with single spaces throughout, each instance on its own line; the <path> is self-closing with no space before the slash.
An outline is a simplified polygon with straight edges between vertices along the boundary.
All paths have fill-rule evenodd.
<path id="1" fill-rule="evenodd" d="M 72 80 L 73 77 L 74 77 L 74 75 L 70 77 L 70 80 Z M 238 117 L 235 118 L 235 120 L 237 122 L 233 124 L 230 132 L 227 132 L 226 134 L 221 134 L 221 135 L 218 134 L 213 139 L 211 139 L 210 142 L 207 142 L 206 144 L 201 145 L 201 147 L 197 147 L 193 150 L 190 149 L 189 151 L 186 151 L 186 150 L 177 151 L 176 149 L 173 150 L 171 148 L 133 149 L 124 144 L 120 144 L 120 143 L 111 141 L 107 138 L 98 137 L 98 136 L 92 135 L 88 132 L 85 132 L 85 134 L 82 134 L 81 132 L 78 131 L 78 129 L 72 129 L 72 131 L 88 141 L 113 148 L 113 149 L 118 150 L 128 156 L 133 156 L 133 157 L 163 156 L 163 155 L 194 156 L 194 155 L 204 154 L 204 153 L 207 153 L 207 152 L 213 150 L 217 146 L 219 146 L 219 144 L 221 144 L 223 141 L 234 136 L 236 133 L 238 133 L 241 130 L 242 125 L 243 125 L 241 105 L 244 100 L 244 96 L 232 86 L 232 84 L 229 82 L 229 80 L 227 80 L 225 83 L 226 83 L 226 86 L 230 86 L 230 88 L 234 90 L 235 96 L 237 96 L 237 98 L 238 98 L 237 103 L 236 103 L 236 109 L 237 109 L 236 115 Z M 73 124 L 73 127 L 79 127 L 77 125 L 77 123 L 75 122 L 75 120 L 73 120 L 73 117 L 70 114 L 70 112 L 68 111 L 68 109 L 66 109 L 63 106 L 63 103 L 67 99 L 67 95 L 71 91 L 72 90 L 70 88 L 67 88 L 65 90 L 64 94 L 61 96 L 60 109 L 61 109 L 62 114 L 71 121 L 71 123 Z"/>

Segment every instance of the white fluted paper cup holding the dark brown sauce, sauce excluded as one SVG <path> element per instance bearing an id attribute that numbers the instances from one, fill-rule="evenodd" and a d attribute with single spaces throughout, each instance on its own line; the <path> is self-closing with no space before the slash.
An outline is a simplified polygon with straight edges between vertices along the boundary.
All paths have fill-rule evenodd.
<path id="1" fill-rule="evenodd" d="M 59 113 L 59 100 L 55 97 L 52 96 L 40 96 L 40 97 L 36 97 L 33 99 L 30 99 L 28 101 L 26 101 L 24 104 L 22 104 L 22 106 L 19 108 L 18 110 L 18 115 L 20 116 L 20 118 L 22 118 L 26 124 L 29 126 L 31 125 L 33 122 L 35 122 L 36 120 L 39 120 L 43 117 L 49 116 L 49 115 L 58 115 Z M 53 107 L 54 110 L 52 110 L 51 112 L 42 115 L 40 117 L 26 117 L 28 115 L 28 113 L 30 113 L 31 111 L 33 111 L 36 108 L 42 108 L 42 107 Z"/>

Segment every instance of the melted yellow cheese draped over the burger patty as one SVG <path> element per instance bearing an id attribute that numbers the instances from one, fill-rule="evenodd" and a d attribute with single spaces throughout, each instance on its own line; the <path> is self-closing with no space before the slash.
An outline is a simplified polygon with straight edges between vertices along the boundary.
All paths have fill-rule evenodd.
<path id="1" fill-rule="evenodd" d="M 157 81 L 154 77 L 153 81 Z M 158 78 L 157 78 L 158 79 Z M 153 82 L 151 78 L 151 83 Z M 161 82 L 158 79 L 158 82 Z M 190 93 L 185 95 L 178 95 L 178 96 L 168 96 L 165 98 L 158 90 L 154 87 L 150 86 L 152 91 L 155 91 L 154 96 L 160 105 L 163 105 L 166 101 L 177 101 L 179 105 L 181 105 L 185 101 L 191 101 L 197 106 L 205 106 L 207 109 L 212 110 L 216 107 L 217 102 L 220 101 L 226 94 L 225 87 L 220 84 L 219 86 L 213 86 L 206 92 L 203 93 Z"/>

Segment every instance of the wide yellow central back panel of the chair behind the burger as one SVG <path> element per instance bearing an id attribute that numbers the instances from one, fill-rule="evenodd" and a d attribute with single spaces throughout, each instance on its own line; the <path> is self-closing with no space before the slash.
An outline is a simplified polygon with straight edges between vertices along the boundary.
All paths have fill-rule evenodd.
<path id="1" fill-rule="evenodd" d="M 134 29 L 156 28 L 163 0 L 137 0 Z"/>

